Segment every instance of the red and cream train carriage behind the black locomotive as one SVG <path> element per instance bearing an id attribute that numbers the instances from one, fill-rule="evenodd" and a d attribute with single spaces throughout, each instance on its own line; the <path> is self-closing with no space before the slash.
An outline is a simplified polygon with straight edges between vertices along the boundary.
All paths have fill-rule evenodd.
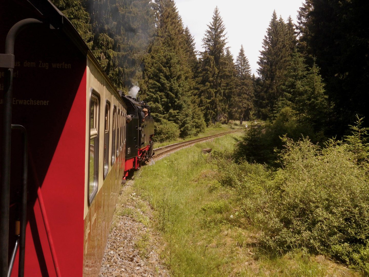
<path id="1" fill-rule="evenodd" d="M 0 1 L 0 53 L 0 276 L 12 264 L 11 276 L 97 276 L 124 176 L 127 106 L 48 0 Z"/>

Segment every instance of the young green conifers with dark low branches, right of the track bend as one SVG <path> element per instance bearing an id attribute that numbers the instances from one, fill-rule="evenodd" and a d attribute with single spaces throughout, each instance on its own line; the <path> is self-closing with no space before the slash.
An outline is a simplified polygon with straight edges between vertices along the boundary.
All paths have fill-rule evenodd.
<path id="1" fill-rule="evenodd" d="M 303 55 L 295 48 L 284 74 L 285 81 L 279 85 L 282 95 L 274 106 L 273 118 L 246 132 L 236 148 L 237 161 L 244 159 L 279 167 L 276 154 L 284 145 L 280 137 L 295 141 L 309 137 L 313 143 L 321 144 L 326 140 L 328 99 L 318 66 L 307 66 Z"/>

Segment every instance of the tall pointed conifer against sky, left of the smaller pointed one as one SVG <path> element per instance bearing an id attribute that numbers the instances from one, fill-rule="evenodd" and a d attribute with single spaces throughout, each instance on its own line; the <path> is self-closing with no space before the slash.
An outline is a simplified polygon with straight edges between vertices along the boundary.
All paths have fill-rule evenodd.
<path id="1" fill-rule="evenodd" d="M 226 112 L 225 97 L 225 26 L 218 7 L 203 38 L 204 52 L 201 52 L 198 72 L 200 106 L 204 109 L 205 122 L 215 123 Z"/>

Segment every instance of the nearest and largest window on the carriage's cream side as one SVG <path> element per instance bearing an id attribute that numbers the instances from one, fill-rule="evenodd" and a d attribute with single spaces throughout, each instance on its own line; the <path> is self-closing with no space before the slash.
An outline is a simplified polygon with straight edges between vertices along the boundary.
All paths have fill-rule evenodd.
<path id="1" fill-rule="evenodd" d="M 91 96 L 90 101 L 90 157 L 89 157 L 89 201 L 96 195 L 99 180 L 99 100 Z"/>

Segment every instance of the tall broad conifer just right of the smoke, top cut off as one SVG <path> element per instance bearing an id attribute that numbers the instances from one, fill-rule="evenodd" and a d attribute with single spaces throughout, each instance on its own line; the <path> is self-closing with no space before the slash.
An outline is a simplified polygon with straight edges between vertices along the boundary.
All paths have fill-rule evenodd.
<path id="1" fill-rule="evenodd" d="M 174 1 L 157 3 L 158 34 L 145 59 L 146 100 L 157 121 L 173 121 L 182 137 L 192 136 L 204 120 L 194 99 L 187 37 Z"/>

